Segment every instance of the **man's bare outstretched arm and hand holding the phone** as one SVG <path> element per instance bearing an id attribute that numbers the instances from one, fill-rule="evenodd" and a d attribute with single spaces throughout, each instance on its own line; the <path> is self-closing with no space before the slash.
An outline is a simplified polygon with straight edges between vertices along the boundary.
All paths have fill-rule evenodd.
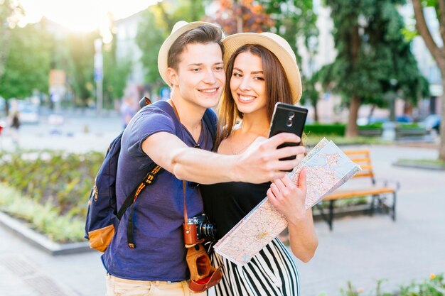
<path id="1" fill-rule="evenodd" d="M 280 133 L 272 138 L 258 138 L 240 155 L 224 155 L 190 148 L 171 133 L 159 132 L 146 138 L 142 150 L 151 160 L 173 173 L 180 180 L 201 184 L 218 182 L 262 183 L 284 177 L 286 170 L 299 160 L 279 160 L 305 152 L 303 146 L 277 150 L 284 142 L 299 142 L 291 133 Z"/>

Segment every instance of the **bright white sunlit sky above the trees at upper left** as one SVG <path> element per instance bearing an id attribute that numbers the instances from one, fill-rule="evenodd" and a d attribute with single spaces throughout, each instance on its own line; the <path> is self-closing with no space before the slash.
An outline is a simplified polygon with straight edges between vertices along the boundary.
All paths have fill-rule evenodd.
<path id="1" fill-rule="evenodd" d="M 114 19 L 146 9 L 156 0 L 18 0 L 26 13 L 24 23 L 36 23 L 42 16 L 77 32 L 100 28 L 107 11 Z"/>

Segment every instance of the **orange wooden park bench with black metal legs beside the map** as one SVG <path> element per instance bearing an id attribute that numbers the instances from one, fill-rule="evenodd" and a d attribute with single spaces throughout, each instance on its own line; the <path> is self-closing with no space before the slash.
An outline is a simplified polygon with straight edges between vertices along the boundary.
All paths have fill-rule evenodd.
<path id="1" fill-rule="evenodd" d="M 323 207 L 323 204 L 317 204 L 316 207 L 320 211 L 322 219 L 328 223 L 329 229 L 333 229 L 334 203 L 341 199 L 366 197 L 370 204 L 368 212 L 371 215 L 376 209 L 379 209 L 390 214 L 392 220 L 395 221 L 396 194 L 400 187 L 399 182 L 375 179 L 369 150 L 344 152 L 354 163 L 360 165 L 362 170 L 338 190 L 323 198 L 323 204 L 328 204 L 327 209 Z M 392 202 L 388 203 L 391 197 Z"/>

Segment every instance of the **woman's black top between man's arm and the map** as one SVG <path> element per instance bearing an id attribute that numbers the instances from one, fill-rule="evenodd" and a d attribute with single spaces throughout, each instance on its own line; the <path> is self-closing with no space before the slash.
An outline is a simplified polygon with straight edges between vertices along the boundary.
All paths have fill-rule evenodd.
<path id="1" fill-rule="evenodd" d="M 250 184 L 227 182 L 200 185 L 204 212 L 216 224 L 217 239 L 221 239 L 266 197 L 270 182 Z"/>

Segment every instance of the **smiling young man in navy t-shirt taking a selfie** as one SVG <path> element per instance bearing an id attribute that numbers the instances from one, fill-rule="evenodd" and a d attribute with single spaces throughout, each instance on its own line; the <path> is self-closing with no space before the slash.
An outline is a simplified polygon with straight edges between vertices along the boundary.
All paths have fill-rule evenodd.
<path id="1" fill-rule="evenodd" d="M 159 72 L 171 86 L 171 99 L 141 109 L 124 132 L 117 170 L 118 207 L 152 163 L 165 171 L 124 214 L 102 256 L 108 296 L 193 294 L 188 290 L 182 233 L 183 190 L 189 217 L 203 212 L 203 204 L 195 183 L 187 182 L 183 188 L 181 180 L 266 182 L 283 177 L 284 170 L 298 164 L 280 158 L 304 153 L 303 147 L 277 150 L 284 142 L 299 141 L 284 133 L 255 141 L 240 155 L 207 151 L 213 148 L 215 124 L 209 125 L 203 116 L 218 104 L 225 84 L 221 39 L 220 28 L 211 23 L 181 21 L 159 50 Z M 207 112 L 215 123 L 213 111 Z M 127 243 L 130 216 L 135 248 Z"/>

